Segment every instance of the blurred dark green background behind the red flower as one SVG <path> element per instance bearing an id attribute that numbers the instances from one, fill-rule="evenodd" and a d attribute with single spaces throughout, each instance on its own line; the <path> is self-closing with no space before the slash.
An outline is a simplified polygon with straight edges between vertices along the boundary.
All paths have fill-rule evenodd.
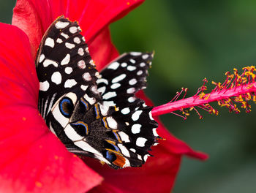
<path id="1" fill-rule="evenodd" d="M 11 22 L 14 4 L 0 1 L 1 22 Z M 211 85 L 234 67 L 256 65 L 256 1 L 147 0 L 111 31 L 121 53 L 156 51 L 146 89 L 156 105 L 182 86 L 192 96 L 204 77 Z M 256 192 L 256 105 L 249 114 L 219 111 L 200 111 L 203 120 L 161 117 L 173 135 L 210 155 L 207 162 L 184 157 L 174 193 Z"/>

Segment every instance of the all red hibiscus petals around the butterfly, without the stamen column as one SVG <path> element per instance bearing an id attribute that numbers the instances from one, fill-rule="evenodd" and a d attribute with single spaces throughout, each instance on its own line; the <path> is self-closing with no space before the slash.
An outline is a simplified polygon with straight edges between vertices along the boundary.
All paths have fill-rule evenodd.
<path id="1" fill-rule="evenodd" d="M 90 158 L 85 164 L 39 115 L 34 59 L 50 23 L 60 15 L 78 20 L 100 70 L 118 56 L 108 25 L 142 2 L 18 0 L 14 26 L 0 23 L 1 192 L 170 192 L 182 155 L 206 159 L 159 123 L 158 133 L 166 140 L 153 148 L 155 157 L 143 167 L 113 170 Z M 152 105 L 143 92 L 138 96 Z"/>

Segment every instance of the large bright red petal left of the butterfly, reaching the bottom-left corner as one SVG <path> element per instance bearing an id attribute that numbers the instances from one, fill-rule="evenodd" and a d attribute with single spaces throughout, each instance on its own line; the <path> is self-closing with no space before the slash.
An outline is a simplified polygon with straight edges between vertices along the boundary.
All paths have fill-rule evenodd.
<path id="1" fill-rule="evenodd" d="M 50 132 L 37 110 L 29 39 L 0 23 L 0 192 L 86 192 L 101 181 Z"/>

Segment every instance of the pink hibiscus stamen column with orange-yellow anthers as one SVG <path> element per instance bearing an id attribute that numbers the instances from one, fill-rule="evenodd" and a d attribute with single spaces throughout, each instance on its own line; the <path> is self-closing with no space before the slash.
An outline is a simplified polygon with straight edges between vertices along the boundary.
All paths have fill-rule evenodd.
<path id="1" fill-rule="evenodd" d="M 205 78 L 203 80 L 203 86 L 198 88 L 198 91 L 194 96 L 189 98 L 183 97 L 183 99 L 176 100 L 183 91 L 185 91 L 184 96 L 186 95 L 187 88 L 182 88 L 181 92 L 178 92 L 171 102 L 154 107 L 152 110 L 152 116 L 173 113 L 177 110 L 181 111 L 185 119 L 189 116 L 189 111 L 192 110 L 195 110 L 200 116 L 200 113 L 198 113 L 195 107 L 207 110 L 208 113 L 218 115 L 219 112 L 209 105 L 210 102 L 218 102 L 219 106 L 227 107 L 230 112 L 233 111 L 235 113 L 240 113 L 240 110 L 238 109 L 238 104 L 240 104 L 241 108 L 244 108 L 246 113 L 249 113 L 251 111 L 251 106 L 248 102 L 251 100 L 256 102 L 255 72 L 256 69 L 254 66 L 243 68 L 241 75 L 238 75 L 237 69 L 233 69 L 233 74 L 226 72 L 225 82 L 215 83 L 212 81 L 215 88 L 208 94 L 204 92 L 207 90 L 207 80 Z M 200 118 L 202 118 L 202 116 L 200 116 Z"/>

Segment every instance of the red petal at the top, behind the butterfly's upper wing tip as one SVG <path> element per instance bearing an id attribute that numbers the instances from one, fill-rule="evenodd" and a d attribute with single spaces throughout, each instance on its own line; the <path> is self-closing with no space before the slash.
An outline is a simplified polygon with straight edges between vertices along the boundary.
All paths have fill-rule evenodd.
<path id="1" fill-rule="evenodd" d="M 110 53 L 116 52 L 106 27 L 142 2 L 143 0 L 18 0 L 13 10 L 12 24 L 18 26 L 29 36 L 32 56 L 35 58 L 42 35 L 53 20 L 60 15 L 70 20 L 78 20 L 86 42 L 89 48 L 92 48 L 91 54 L 94 60 L 97 61 L 99 57 L 99 61 L 102 61 L 103 56 L 97 55 L 97 52 L 94 53 L 94 48 L 101 49 L 99 41 L 96 41 L 94 45 L 94 39 L 98 35 L 102 36 L 100 32 L 105 29 L 103 32 L 105 39 L 100 37 L 97 39 L 104 40 L 103 45 L 109 45 L 108 49 L 113 49 Z M 109 61 L 105 59 L 105 62 Z"/>

